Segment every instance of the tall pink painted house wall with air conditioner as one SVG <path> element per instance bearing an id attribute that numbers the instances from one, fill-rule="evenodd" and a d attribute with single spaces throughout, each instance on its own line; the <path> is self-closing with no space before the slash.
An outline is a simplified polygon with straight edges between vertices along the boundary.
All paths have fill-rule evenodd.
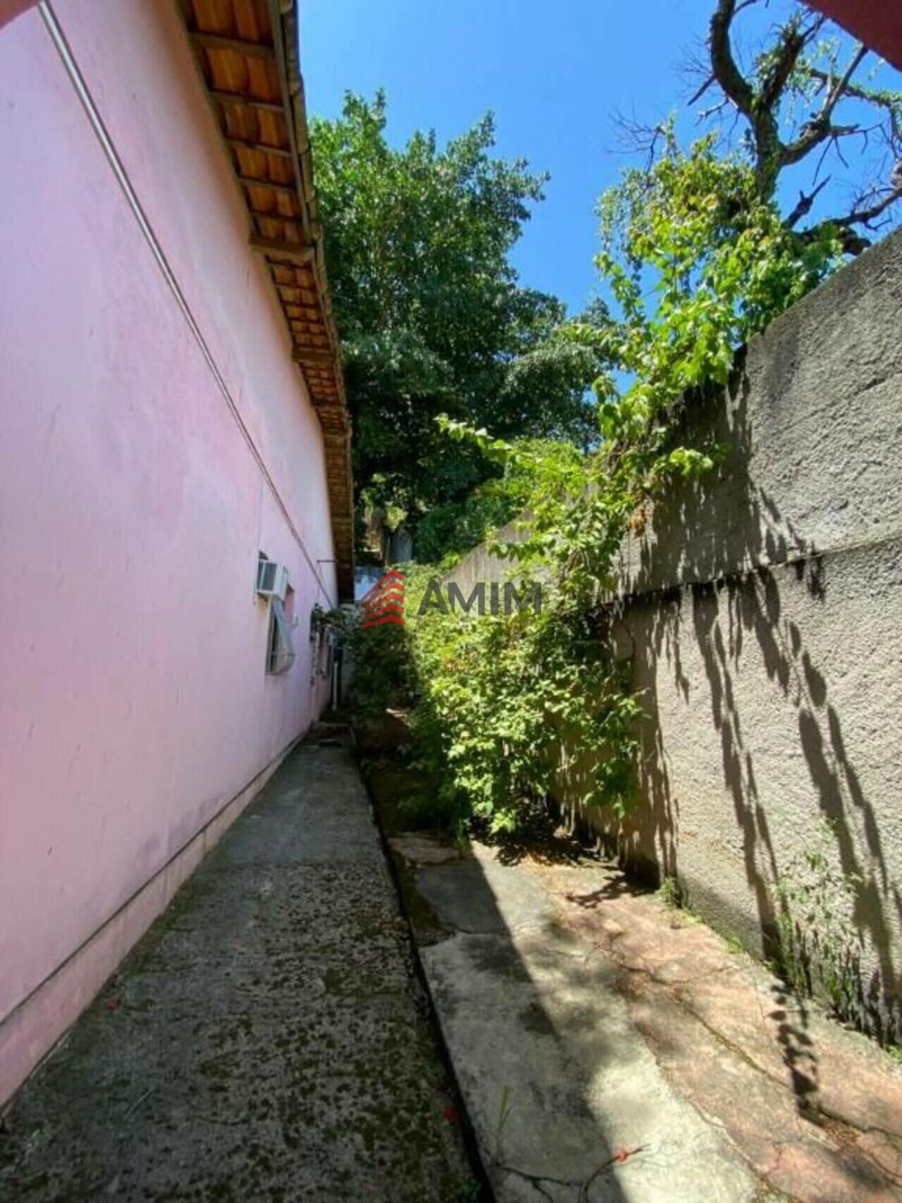
<path id="1" fill-rule="evenodd" d="M 319 423 L 174 5 L 54 10 L 237 414 L 25 13 L 0 30 L 0 1098 L 167 890 L 121 908 L 319 712 L 334 602 Z M 281 677 L 261 549 L 297 589 Z"/>

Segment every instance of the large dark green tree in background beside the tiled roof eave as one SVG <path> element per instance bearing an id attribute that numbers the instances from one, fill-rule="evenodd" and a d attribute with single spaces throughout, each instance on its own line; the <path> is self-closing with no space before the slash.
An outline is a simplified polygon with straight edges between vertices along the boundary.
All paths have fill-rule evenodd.
<path id="1" fill-rule="evenodd" d="M 508 254 L 545 177 L 491 154 L 483 118 L 439 148 L 385 136 L 386 103 L 348 95 L 315 119 L 319 211 L 355 426 L 354 473 L 374 505 L 411 525 L 485 479 L 471 448 L 449 449 L 449 413 L 505 435 L 594 433 L 594 349 L 560 336 L 564 307 L 518 285 Z"/>

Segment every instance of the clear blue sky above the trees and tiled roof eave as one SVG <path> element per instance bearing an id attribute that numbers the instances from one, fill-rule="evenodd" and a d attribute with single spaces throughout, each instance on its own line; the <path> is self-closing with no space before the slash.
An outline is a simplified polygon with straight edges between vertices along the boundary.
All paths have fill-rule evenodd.
<path id="1" fill-rule="evenodd" d="M 336 115 L 345 90 L 385 88 L 388 136 L 400 143 L 417 128 L 444 141 L 492 109 L 498 153 L 551 172 L 514 262 L 524 284 L 578 310 L 594 289 L 594 202 L 628 161 L 612 115 L 657 122 L 681 106 L 680 64 L 704 38 L 711 8 L 712 0 L 303 0 L 308 111 Z M 773 0 L 762 19 L 782 10 Z M 891 69 L 880 75 L 902 87 Z M 689 113 L 681 128 L 692 136 Z M 843 188 L 835 176 L 824 198 Z"/>

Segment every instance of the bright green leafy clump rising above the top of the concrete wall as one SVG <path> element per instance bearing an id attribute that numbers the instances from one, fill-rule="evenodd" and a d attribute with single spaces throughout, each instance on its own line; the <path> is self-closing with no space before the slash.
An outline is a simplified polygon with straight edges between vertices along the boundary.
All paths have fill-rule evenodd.
<path id="1" fill-rule="evenodd" d="M 713 135 L 684 154 L 670 125 L 651 170 L 627 171 L 599 214 L 597 263 L 623 313 L 605 349 L 639 378 L 625 398 L 613 390 L 605 398 L 609 438 L 624 423 L 642 429 L 688 389 L 725 383 L 735 348 L 819 284 L 842 253 L 830 229 L 800 244 L 741 155 L 719 156 Z"/>

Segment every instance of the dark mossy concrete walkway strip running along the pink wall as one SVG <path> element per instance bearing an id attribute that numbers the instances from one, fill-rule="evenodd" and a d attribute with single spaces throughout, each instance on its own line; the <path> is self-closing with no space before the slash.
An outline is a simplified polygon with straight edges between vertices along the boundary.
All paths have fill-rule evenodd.
<path id="1" fill-rule="evenodd" d="M 0 1134 L 0 1198 L 479 1197 L 348 747 L 301 746 Z"/>

